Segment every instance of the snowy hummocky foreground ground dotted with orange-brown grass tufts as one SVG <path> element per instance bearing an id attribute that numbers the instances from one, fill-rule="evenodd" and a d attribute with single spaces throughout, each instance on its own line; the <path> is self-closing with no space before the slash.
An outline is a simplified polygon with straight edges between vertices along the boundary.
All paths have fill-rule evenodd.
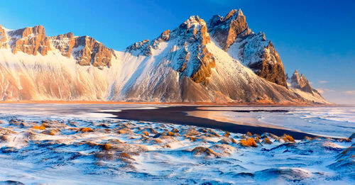
<path id="1" fill-rule="evenodd" d="M 153 107 L 0 104 L 0 181 L 24 184 L 354 184 L 354 139 L 307 138 L 294 142 L 281 135 L 226 133 L 186 125 L 116 120 L 109 118 L 109 114 L 92 113 Z M 315 126 L 317 129 L 313 130 L 320 131 L 322 120 L 328 121 L 320 116 L 329 116 L 324 113 L 329 109 L 290 109 L 292 111 L 279 113 L 253 112 L 250 116 L 261 115 L 261 121 L 272 116 L 275 120 L 288 116 L 318 120 L 308 122 L 308 127 L 302 123 L 297 130 Z M 332 119 L 329 121 L 344 121 L 347 114 L 351 117 L 349 109 L 334 110 L 337 111 L 332 111 L 332 117 L 327 117 Z M 310 113 L 312 116 L 305 116 Z M 349 125 L 344 130 L 338 129 L 339 136 L 348 138 L 351 134 L 346 134 L 354 132 L 354 127 L 351 127 L 351 119 L 344 123 Z M 324 122 L 322 130 L 329 130 L 324 131 L 324 135 L 337 133 L 327 129 L 328 125 L 337 130 L 336 123 Z M 248 138 L 256 142 L 244 142 Z M 271 144 L 267 144 L 267 140 Z M 254 147 L 246 146 L 248 144 Z"/>

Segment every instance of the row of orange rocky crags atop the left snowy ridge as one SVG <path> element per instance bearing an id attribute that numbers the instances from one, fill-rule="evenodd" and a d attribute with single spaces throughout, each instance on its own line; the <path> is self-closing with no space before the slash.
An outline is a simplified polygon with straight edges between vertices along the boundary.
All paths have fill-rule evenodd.
<path id="1" fill-rule="evenodd" d="M 43 26 L 6 31 L 0 26 L 0 48 L 10 47 L 13 53 L 47 55 L 60 50 L 65 57 L 74 57 L 79 65 L 110 67 L 113 50 L 88 36 L 75 37 L 72 33 L 47 37 Z"/>

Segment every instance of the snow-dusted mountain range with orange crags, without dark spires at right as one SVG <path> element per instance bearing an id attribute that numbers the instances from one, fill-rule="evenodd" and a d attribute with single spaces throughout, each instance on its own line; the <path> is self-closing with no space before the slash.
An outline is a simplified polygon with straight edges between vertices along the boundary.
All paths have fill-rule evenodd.
<path id="1" fill-rule="evenodd" d="M 3 100 L 327 102 L 287 86 L 272 43 L 240 10 L 208 23 L 190 16 L 124 52 L 88 36 L 48 37 L 42 26 L 0 26 L 0 74 Z"/>

